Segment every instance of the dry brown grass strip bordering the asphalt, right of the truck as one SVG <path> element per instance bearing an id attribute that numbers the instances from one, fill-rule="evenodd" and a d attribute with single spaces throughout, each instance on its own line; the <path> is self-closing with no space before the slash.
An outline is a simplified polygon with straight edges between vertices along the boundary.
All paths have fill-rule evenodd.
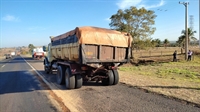
<path id="1" fill-rule="evenodd" d="M 119 71 L 120 82 L 200 105 L 200 83 L 179 82 Z"/>

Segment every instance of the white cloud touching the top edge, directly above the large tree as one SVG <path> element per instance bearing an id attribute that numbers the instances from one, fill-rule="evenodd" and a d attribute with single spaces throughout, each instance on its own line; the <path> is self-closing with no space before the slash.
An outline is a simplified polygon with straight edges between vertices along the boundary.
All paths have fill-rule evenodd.
<path id="1" fill-rule="evenodd" d="M 117 5 L 120 9 L 125 9 L 130 6 L 136 6 L 141 2 L 142 0 L 120 0 L 120 2 L 117 3 Z"/>

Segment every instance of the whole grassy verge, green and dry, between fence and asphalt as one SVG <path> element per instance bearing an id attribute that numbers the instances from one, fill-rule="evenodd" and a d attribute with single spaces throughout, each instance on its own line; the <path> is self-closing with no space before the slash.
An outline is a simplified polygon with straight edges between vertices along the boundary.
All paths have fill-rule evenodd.
<path id="1" fill-rule="evenodd" d="M 191 62 L 151 62 L 137 66 L 127 64 L 119 68 L 119 74 L 122 83 L 191 102 L 200 107 L 199 69 L 200 58 L 195 57 Z"/>

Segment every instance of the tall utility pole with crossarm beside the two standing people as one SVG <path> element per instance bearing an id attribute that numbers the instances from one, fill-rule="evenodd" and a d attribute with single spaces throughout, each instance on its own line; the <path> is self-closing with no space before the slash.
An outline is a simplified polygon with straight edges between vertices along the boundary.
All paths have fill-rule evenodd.
<path id="1" fill-rule="evenodd" d="M 188 5 L 189 2 L 179 2 L 179 4 L 183 4 L 185 6 L 185 60 L 187 60 L 188 57 L 188 20 L 187 20 L 187 16 L 188 16 Z"/>

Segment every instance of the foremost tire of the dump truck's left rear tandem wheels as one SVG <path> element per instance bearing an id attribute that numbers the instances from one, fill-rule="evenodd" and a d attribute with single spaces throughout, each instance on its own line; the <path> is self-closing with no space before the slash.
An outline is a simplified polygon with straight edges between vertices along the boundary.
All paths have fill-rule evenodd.
<path id="1" fill-rule="evenodd" d="M 57 70 L 57 83 L 61 85 L 64 84 L 64 82 L 65 82 L 64 68 L 59 65 Z"/>

